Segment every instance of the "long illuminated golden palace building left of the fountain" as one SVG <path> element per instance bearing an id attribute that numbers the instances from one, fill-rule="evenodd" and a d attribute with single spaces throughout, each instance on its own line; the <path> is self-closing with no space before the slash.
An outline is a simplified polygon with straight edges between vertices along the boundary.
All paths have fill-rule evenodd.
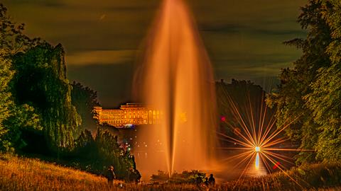
<path id="1" fill-rule="evenodd" d="M 158 124 L 161 112 L 152 110 L 141 103 L 126 103 L 119 109 L 103 109 L 95 107 L 97 120 L 100 124 L 108 124 L 118 128 L 131 127 L 133 125 Z"/>

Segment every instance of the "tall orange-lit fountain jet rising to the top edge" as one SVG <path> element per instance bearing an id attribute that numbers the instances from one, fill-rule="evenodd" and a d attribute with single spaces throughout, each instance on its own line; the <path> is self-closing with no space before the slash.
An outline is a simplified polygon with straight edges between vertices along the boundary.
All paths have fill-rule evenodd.
<path id="1" fill-rule="evenodd" d="M 136 158 L 142 173 L 209 168 L 215 147 L 215 81 L 182 0 L 163 1 L 134 76 L 134 91 L 161 111 L 160 124 L 138 135 L 139 142 L 149 143 L 144 159 Z"/>

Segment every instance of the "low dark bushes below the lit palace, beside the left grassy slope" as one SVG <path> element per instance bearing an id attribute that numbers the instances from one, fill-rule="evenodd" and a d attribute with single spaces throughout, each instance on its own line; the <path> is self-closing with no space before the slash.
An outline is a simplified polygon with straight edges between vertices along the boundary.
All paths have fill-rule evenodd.
<path id="1" fill-rule="evenodd" d="M 75 141 L 75 150 L 68 161 L 72 166 L 96 174 L 105 174 L 108 166 L 114 166 L 117 178 L 129 180 L 131 168 L 136 168 L 134 156 L 122 149 L 117 136 L 107 130 L 97 129 L 96 137 L 85 130 Z M 69 157 L 70 157 L 69 156 Z"/>

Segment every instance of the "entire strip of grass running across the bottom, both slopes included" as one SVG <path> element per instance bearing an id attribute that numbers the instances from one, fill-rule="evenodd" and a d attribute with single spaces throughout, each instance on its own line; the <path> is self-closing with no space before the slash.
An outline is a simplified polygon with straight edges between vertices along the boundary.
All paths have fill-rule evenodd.
<path id="1" fill-rule="evenodd" d="M 239 180 L 212 187 L 212 190 L 341 190 L 341 165 L 313 164 L 263 178 Z M 103 177 L 72 168 L 45 163 L 38 159 L 0 155 L 0 190 L 206 190 L 195 185 L 107 185 Z M 301 186 L 300 186 L 301 185 Z M 330 188 L 331 187 L 331 188 Z"/>

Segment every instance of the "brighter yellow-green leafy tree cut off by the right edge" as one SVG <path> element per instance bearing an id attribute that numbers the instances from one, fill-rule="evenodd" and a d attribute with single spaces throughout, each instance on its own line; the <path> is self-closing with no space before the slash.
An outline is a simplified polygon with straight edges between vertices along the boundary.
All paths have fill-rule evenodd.
<path id="1" fill-rule="evenodd" d="M 341 2 L 324 1 L 323 18 L 331 30 L 326 53 L 331 66 L 318 70 L 316 81 L 310 83 L 311 92 L 304 98 L 313 112 L 313 120 L 320 125 L 316 149 L 319 159 L 341 159 Z"/>

